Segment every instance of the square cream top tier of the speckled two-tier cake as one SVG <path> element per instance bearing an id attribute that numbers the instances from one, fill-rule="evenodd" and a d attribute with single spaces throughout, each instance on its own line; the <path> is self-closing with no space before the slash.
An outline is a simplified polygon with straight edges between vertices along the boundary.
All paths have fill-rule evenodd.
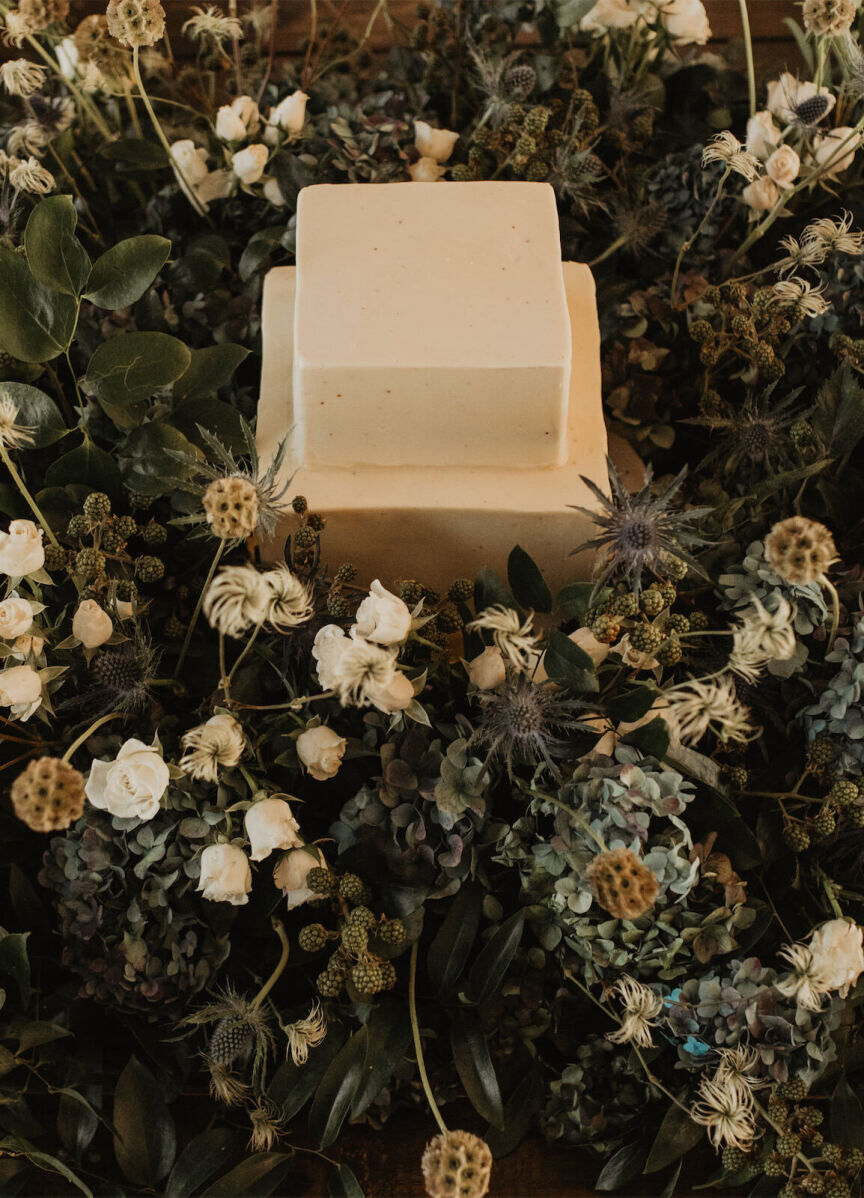
<path id="1" fill-rule="evenodd" d="M 546 183 L 303 188 L 294 333 L 297 461 L 568 460 L 574 346 Z"/>

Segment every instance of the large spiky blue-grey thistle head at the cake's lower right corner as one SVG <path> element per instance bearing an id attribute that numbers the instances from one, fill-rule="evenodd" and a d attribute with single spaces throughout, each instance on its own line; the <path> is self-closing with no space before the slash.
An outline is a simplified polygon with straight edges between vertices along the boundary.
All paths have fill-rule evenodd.
<path id="1" fill-rule="evenodd" d="M 604 495 L 592 479 L 582 476 L 582 482 L 597 497 L 600 508 L 591 510 L 575 503 L 568 504 L 575 512 L 590 516 L 599 528 L 596 537 L 573 550 L 573 555 L 581 553 L 586 549 L 599 551 L 594 564 L 594 595 L 614 576 L 624 581 L 634 594 L 639 594 L 642 588 L 642 574 L 646 570 L 660 581 L 666 581 L 669 577 L 666 563 L 670 559 L 683 562 L 705 577 L 705 570 L 689 551 L 695 545 L 705 545 L 706 541 L 691 526 L 712 509 L 690 508 L 685 512 L 670 509 L 672 498 L 687 476 L 687 466 L 664 491 L 654 495 L 649 466 L 646 467 L 641 490 L 630 494 L 622 483 L 615 464 L 608 460 L 608 465 L 611 498 Z"/>

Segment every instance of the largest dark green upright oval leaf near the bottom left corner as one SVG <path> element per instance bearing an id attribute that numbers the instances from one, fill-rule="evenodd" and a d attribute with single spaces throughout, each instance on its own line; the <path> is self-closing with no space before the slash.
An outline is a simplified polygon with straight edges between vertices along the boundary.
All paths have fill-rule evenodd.
<path id="1" fill-rule="evenodd" d="M 114 1155 L 133 1185 L 165 1176 L 177 1146 L 163 1090 L 146 1065 L 129 1057 L 114 1090 Z"/>

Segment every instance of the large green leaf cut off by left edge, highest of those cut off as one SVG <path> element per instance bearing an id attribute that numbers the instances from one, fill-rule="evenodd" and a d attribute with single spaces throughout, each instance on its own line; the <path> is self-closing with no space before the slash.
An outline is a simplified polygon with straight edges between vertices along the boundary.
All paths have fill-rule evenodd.
<path id="1" fill-rule="evenodd" d="M 75 331 L 75 301 L 43 286 L 25 259 L 0 246 L 0 347 L 22 362 L 50 362 Z"/>

